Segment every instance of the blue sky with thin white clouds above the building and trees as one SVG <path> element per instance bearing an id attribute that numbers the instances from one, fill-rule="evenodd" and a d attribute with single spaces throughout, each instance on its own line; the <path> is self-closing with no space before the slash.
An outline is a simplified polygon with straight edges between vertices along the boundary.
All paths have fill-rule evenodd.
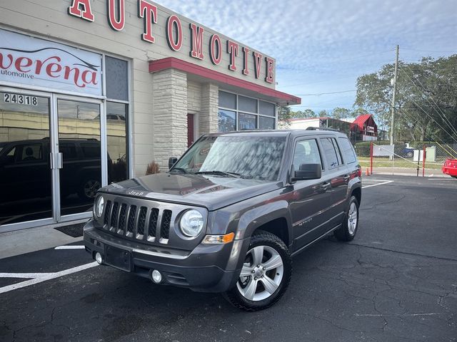
<path id="1" fill-rule="evenodd" d="M 276 58 L 294 110 L 352 108 L 356 78 L 393 63 L 396 44 L 403 61 L 457 53 L 457 0 L 156 2 Z"/>

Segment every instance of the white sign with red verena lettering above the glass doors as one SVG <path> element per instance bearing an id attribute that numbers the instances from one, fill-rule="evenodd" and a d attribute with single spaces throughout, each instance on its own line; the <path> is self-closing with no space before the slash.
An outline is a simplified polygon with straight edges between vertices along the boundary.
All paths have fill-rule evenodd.
<path id="1" fill-rule="evenodd" d="M 0 82 L 101 95 L 101 55 L 0 30 Z"/>

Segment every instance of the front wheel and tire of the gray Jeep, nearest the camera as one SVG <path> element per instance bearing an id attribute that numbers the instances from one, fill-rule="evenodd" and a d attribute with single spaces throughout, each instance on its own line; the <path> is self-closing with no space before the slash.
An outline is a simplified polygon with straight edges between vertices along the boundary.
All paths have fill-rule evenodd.
<path id="1" fill-rule="evenodd" d="M 263 310 L 283 296 L 291 274 L 292 260 L 286 244 L 276 235 L 259 230 L 251 237 L 236 286 L 223 295 L 238 309 Z"/>

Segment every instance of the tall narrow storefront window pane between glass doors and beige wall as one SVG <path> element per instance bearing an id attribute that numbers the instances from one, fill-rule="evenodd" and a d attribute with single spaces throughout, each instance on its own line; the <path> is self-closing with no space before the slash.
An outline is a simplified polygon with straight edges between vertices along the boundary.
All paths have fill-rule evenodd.
<path id="1" fill-rule="evenodd" d="M 127 110 L 125 103 L 106 103 L 106 135 L 108 155 L 111 166 L 108 167 L 108 182 L 120 182 L 129 178 L 127 159 Z"/>

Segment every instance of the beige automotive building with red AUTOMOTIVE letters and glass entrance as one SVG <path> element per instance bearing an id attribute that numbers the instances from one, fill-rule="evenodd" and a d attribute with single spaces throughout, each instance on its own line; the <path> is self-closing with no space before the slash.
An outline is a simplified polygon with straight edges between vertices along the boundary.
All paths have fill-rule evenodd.
<path id="1" fill-rule="evenodd" d="M 149 0 L 1 7 L 0 231 L 90 217 L 100 186 L 301 102 L 274 58 Z"/>

